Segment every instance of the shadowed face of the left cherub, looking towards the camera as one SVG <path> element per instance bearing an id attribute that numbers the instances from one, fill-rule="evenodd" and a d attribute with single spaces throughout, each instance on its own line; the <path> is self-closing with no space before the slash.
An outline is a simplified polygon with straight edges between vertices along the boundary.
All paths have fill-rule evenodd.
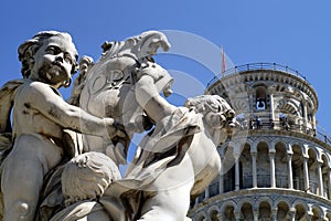
<path id="1" fill-rule="evenodd" d="M 62 35 L 52 36 L 45 40 L 34 54 L 31 76 L 60 87 L 71 78 L 76 54 L 75 45 L 70 39 Z"/>

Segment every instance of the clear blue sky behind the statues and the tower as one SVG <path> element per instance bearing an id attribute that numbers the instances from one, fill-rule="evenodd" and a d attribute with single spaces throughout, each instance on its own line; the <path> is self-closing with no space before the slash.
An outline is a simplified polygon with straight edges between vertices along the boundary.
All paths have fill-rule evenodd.
<path id="1" fill-rule="evenodd" d="M 0 84 L 21 77 L 17 49 L 24 40 L 42 30 L 70 32 L 79 54 L 90 55 L 95 60 L 99 57 L 100 44 L 106 40 L 122 40 L 152 29 L 183 31 L 203 38 L 216 46 L 223 45 L 227 57 L 235 65 L 276 62 L 305 74 L 319 96 L 317 115 L 319 125 L 329 134 L 331 133 L 331 70 L 328 65 L 331 63 L 330 1 L 168 0 L 161 2 L 156 0 L 3 1 L 0 8 Z M 188 49 L 197 48 L 195 52 L 199 53 L 199 45 L 186 41 L 185 38 L 182 39 L 182 45 Z M 190 53 L 194 56 L 195 52 Z M 194 81 L 201 83 L 199 90 L 195 90 L 197 84 L 191 86 L 188 83 L 184 87 L 178 85 L 178 90 L 191 90 L 192 95 L 203 91 L 202 87 L 213 77 L 213 72 L 192 57 L 164 59 L 161 55 L 157 59 L 166 69 L 192 75 Z M 221 59 L 217 69 L 221 70 Z M 182 76 L 185 74 L 179 74 L 179 77 Z M 62 91 L 64 96 L 67 96 L 68 92 L 70 90 Z"/>

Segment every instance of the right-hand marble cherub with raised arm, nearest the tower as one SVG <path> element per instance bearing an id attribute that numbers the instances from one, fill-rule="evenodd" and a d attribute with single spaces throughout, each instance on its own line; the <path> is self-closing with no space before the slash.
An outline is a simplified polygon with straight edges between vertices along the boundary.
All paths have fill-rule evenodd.
<path id="1" fill-rule="evenodd" d="M 156 126 L 115 188 L 140 190 L 142 203 L 134 220 L 184 220 L 190 198 L 220 173 L 216 147 L 236 129 L 235 112 L 217 95 L 202 95 L 188 99 L 185 107 L 174 107 L 153 88 L 158 76 L 153 71 L 159 72 L 152 66 L 141 70 L 136 96 Z"/>

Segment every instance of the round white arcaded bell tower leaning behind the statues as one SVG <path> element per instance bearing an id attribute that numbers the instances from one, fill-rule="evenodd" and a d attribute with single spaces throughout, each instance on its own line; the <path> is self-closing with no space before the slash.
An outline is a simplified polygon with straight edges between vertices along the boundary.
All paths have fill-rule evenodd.
<path id="1" fill-rule="evenodd" d="M 299 72 L 275 63 L 236 66 L 211 81 L 241 130 L 217 151 L 222 171 L 192 200 L 189 217 L 331 220 L 331 137 L 316 119 L 318 96 Z"/>

